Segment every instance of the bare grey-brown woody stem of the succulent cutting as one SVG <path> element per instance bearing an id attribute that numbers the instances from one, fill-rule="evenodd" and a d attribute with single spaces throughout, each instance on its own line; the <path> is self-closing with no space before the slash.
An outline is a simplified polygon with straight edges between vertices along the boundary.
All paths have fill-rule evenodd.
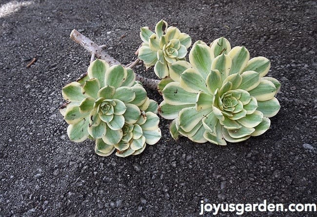
<path id="1" fill-rule="evenodd" d="M 80 34 L 77 30 L 73 30 L 70 34 L 70 38 L 76 43 L 80 44 L 83 48 L 94 54 L 97 58 L 105 60 L 110 66 L 112 65 L 122 65 L 118 60 L 110 56 L 105 50 L 103 50 L 99 45 L 90 40 L 88 37 Z M 123 66 L 123 65 L 122 65 Z M 142 75 L 136 73 L 136 80 L 140 81 L 144 87 L 151 90 L 158 90 L 159 80 L 143 77 Z"/>

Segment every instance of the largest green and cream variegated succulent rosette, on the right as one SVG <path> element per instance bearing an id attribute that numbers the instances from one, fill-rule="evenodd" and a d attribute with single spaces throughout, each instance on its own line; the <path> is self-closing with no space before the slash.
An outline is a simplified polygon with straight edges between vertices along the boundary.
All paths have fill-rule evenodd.
<path id="1" fill-rule="evenodd" d="M 258 136 L 270 127 L 280 105 L 275 98 L 280 83 L 265 77 L 270 61 L 249 59 L 245 47 L 231 49 L 223 37 L 210 46 L 194 44 L 190 64 L 172 64 L 173 81 L 162 90 L 163 118 L 173 120 L 170 131 L 197 143 L 226 145 Z"/>

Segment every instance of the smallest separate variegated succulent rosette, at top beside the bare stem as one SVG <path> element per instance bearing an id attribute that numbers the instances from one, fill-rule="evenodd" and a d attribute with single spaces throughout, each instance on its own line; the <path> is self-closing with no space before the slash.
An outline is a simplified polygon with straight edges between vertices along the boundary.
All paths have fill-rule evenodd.
<path id="1" fill-rule="evenodd" d="M 174 26 L 168 27 L 164 20 L 156 24 L 155 33 L 149 27 L 141 28 L 140 37 L 143 43 L 138 57 L 146 68 L 154 66 L 154 72 L 159 78 L 169 76 L 170 65 L 183 60 L 192 44 L 190 36 Z"/>

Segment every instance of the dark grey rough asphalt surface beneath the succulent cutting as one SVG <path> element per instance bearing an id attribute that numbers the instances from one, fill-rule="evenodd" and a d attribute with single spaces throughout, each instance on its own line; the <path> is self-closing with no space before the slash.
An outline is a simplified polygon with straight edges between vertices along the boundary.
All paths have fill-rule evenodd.
<path id="1" fill-rule="evenodd" d="M 8 2 L 1 0 L 0 6 Z M 316 203 L 316 1 L 87 2 L 34 0 L 12 13 L 0 10 L 1 217 L 192 217 L 199 216 L 201 200 Z M 85 72 L 90 60 L 69 39 L 72 29 L 106 44 L 108 53 L 126 64 L 136 58 L 139 28 L 154 28 L 161 18 L 193 42 L 225 36 L 232 47 L 245 46 L 251 57 L 271 60 L 269 76 L 282 87 L 281 109 L 269 131 L 225 147 L 186 138 L 176 143 L 169 122 L 161 119 L 158 144 L 124 159 L 99 157 L 92 141 L 68 139 L 58 110 L 61 88 Z M 37 61 L 26 68 L 33 57 Z M 161 101 L 158 93 L 148 92 Z"/>

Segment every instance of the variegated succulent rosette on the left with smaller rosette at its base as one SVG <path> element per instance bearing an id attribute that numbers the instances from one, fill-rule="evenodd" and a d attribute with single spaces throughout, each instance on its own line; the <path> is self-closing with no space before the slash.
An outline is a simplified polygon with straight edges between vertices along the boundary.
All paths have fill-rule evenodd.
<path id="1" fill-rule="evenodd" d="M 62 89 L 67 103 L 60 109 L 74 142 L 96 140 L 100 156 L 126 157 L 141 153 L 161 137 L 158 104 L 147 97 L 131 69 L 95 60 L 87 75 Z"/>

